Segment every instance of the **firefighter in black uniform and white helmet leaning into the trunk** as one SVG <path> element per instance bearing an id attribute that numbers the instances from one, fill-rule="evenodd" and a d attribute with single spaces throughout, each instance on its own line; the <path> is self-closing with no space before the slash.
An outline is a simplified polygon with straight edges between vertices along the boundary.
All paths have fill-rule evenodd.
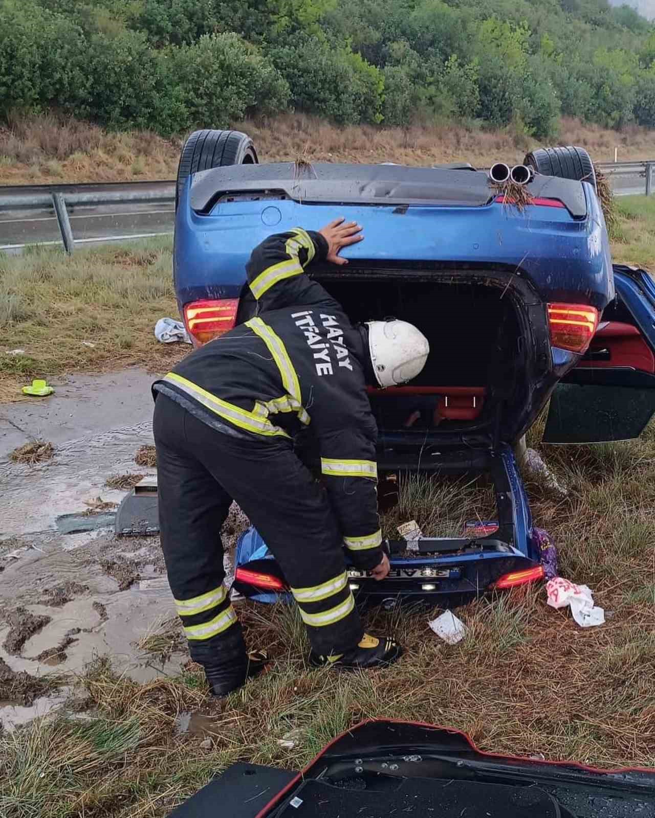
<path id="1" fill-rule="evenodd" d="M 364 633 L 346 573 L 389 572 L 377 516 L 377 428 L 366 384 L 418 375 L 427 339 L 404 321 L 351 326 L 317 261 L 346 264 L 363 239 L 339 218 L 295 228 L 253 250 L 247 281 L 256 317 L 194 350 L 153 384 L 161 546 L 192 658 L 213 694 L 264 667 L 248 654 L 224 586 L 220 529 L 232 501 L 278 561 L 305 622 L 314 666 L 381 667 L 400 645 Z M 301 430 L 320 452 L 315 480 L 294 452 Z"/>

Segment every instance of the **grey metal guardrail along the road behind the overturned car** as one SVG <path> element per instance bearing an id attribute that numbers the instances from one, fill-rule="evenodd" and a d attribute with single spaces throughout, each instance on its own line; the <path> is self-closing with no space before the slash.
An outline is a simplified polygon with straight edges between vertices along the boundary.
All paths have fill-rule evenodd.
<path id="1" fill-rule="evenodd" d="M 601 162 L 596 167 L 610 180 L 644 179 L 644 194 L 653 193 L 653 173 L 655 160 L 641 162 Z M 120 191 L 112 188 L 120 187 Z M 635 186 L 638 187 L 638 186 Z M 640 186 L 639 186 L 640 187 Z M 133 188 L 133 190 L 126 190 Z M 29 193 L 27 191 L 30 191 Z M 621 190 L 616 191 L 622 195 Z M 634 192 L 630 190 L 630 192 Z M 30 185 L 0 187 L 0 213 L 46 209 L 56 216 L 61 241 L 67 253 L 75 249 L 75 237 L 70 227 L 68 208 L 93 205 L 124 204 L 172 204 L 175 198 L 175 182 L 108 182 L 88 185 Z M 102 239 L 97 239 L 102 240 Z"/>

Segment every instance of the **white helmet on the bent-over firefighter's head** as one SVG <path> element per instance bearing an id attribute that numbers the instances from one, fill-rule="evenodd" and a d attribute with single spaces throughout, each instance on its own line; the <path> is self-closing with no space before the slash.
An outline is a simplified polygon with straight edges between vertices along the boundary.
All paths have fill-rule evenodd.
<path id="1" fill-rule="evenodd" d="M 377 383 L 404 384 L 425 366 L 430 344 L 420 330 L 407 321 L 367 321 L 368 350 Z"/>

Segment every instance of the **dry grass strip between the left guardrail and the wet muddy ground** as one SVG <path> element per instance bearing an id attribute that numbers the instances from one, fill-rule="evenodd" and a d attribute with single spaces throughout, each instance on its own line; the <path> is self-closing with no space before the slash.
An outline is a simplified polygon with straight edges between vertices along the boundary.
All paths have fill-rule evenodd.
<path id="1" fill-rule="evenodd" d="M 177 315 L 171 242 L 0 254 L 0 401 L 32 377 L 141 365 L 165 371 L 188 348 L 159 344 L 154 326 Z"/>

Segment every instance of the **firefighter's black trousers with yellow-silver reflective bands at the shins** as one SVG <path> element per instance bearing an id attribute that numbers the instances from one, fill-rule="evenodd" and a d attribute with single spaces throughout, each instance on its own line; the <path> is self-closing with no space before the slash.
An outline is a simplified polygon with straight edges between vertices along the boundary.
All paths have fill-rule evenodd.
<path id="1" fill-rule="evenodd" d="M 337 520 L 291 441 L 223 434 L 162 394 L 153 430 L 161 546 L 192 657 L 220 661 L 240 631 L 223 584 L 220 538 L 233 500 L 278 560 L 313 649 L 329 655 L 355 647 L 363 629 Z"/>

